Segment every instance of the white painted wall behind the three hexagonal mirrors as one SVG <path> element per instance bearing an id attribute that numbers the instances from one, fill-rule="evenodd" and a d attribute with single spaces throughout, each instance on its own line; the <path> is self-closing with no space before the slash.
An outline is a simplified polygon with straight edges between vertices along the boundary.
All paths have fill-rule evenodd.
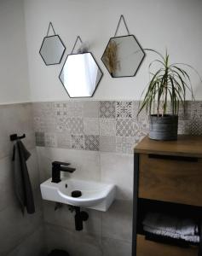
<path id="1" fill-rule="evenodd" d="M 138 100 L 148 81 L 147 55 L 135 78 L 112 79 L 101 62 L 108 39 L 123 14 L 130 33 L 143 48 L 169 49 L 172 61 L 187 62 L 202 75 L 201 0 L 24 0 L 32 101 L 68 100 L 58 75 L 78 35 L 88 40 L 104 77 L 93 99 Z M 66 44 L 61 65 L 46 67 L 38 54 L 49 21 Z M 193 76 L 193 89 L 202 99 L 202 84 Z"/>

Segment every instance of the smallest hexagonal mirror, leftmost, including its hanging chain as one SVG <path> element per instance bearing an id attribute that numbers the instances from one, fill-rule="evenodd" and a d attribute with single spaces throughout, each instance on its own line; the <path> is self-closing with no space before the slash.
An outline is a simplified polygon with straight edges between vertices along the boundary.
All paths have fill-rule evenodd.
<path id="1" fill-rule="evenodd" d="M 49 36 L 48 29 L 47 36 L 43 38 L 43 43 L 39 50 L 39 53 L 47 66 L 60 64 L 66 50 L 60 36 L 55 34 L 55 30 L 51 22 L 49 23 L 49 28 L 50 26 L 52 26 L 54 35 Z"/>

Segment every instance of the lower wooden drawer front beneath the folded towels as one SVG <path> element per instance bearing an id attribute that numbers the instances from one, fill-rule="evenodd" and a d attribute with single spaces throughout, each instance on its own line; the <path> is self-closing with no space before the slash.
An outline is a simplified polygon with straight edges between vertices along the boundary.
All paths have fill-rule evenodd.
<path id="1" fill-rule="evenodd" d="M 136 256 L 197 256 L 199 247 L 176 247 L 137 235 Z"/>

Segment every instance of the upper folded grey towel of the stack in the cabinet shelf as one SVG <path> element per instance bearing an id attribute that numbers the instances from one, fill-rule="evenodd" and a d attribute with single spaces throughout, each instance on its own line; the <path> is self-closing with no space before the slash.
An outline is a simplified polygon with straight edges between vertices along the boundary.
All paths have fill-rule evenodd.
<path id="1" fill-rule="evenodd" d="M 143 225 L 184 236 L 198 235 L 198 225 L 191 218 L 177 218 L 160 212 L 148 212 Z"/>

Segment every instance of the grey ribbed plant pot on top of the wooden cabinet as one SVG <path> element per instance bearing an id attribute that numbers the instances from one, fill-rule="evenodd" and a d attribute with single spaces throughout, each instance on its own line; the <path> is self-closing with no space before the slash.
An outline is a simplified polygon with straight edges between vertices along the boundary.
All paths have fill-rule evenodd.
<path id="1" fill-rule="evenodd" d="M 149 137 L 159 141 L 177 140 L 178 115 L 149 116 Z"/>

